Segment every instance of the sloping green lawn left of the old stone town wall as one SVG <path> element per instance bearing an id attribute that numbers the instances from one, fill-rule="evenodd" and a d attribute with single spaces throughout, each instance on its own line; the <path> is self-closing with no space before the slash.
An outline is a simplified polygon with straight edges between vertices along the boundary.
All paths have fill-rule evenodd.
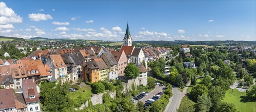
<path id="1" fill-rule="evenodd" d="M 75 92 L 70 92 L 69 97 L 73 100 L 76 107 L 80 107 L 92 94 L 91 87 L 86 85 Z"/>

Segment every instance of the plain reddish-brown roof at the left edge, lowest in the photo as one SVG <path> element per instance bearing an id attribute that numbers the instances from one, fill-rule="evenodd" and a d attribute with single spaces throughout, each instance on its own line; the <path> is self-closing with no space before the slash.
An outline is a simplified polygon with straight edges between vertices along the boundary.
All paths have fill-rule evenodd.
<path id="1" fill-rule="evenodd" d="M 13 89 L 0 89 L 0 109 L 15 107 Z"/>

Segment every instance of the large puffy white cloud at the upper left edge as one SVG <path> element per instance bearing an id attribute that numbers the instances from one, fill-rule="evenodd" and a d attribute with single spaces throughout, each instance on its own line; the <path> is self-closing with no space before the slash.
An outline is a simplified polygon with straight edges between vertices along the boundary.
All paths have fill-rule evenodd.
<path id="1" fill-rule="evenodd" d="M 6 6 L 4 2 L 0 2 L 0 24 L 22 23 L 22 17 Z"/>

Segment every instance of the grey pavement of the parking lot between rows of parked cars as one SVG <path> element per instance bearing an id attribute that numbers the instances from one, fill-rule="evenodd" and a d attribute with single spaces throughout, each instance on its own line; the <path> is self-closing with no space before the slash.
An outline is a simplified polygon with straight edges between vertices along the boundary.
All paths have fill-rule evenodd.
<path id="1" fill-rule="evenodd" d="M 148 95 L 143 97 L 140 101 L 143 102 L 143 104 L 145 104 L 145 101 L 147 101 L 148 99 L 151 99 L 158 92 L 163 91 L 164 87 L 165 86 L 160 87 L 159 85 L 156 85 L 155 89 L 153 91 L 151 91 L 150 93 L 148 93 Z M 132 100 L 134 100 L 134 99 L 132 99 Z M 138 100 L 134 100 L 134 101 L 135 101 L 135 104 L 138 102 Z"/>

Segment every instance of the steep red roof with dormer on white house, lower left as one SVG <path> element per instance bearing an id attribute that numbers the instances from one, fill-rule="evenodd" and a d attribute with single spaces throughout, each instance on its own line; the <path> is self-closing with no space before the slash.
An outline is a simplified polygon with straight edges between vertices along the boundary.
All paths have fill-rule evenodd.
<path id="1" fill-rule="evenodd" d="M 40 101 L 34 79 L 22 80 L 22 89 L 23 89 L 23 96 L 25 98 L 26 103 Z M 30 99 L 29 95 L 34 95 L 35 98 Z"/>

